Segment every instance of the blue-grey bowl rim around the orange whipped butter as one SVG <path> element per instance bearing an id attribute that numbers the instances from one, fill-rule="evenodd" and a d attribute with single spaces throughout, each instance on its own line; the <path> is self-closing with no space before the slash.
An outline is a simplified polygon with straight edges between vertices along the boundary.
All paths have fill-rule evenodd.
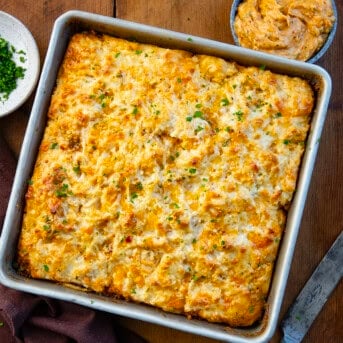
<path id="1" fill-rule="evenodd" d="M 325 53 L 326 51 L 329 49 L 330 45 L 333 42 L 333 39 L 335 37 L 336 34 L 336 30 L 337 30 L 337 22 L 338 22 L 338 13 L 337 13 L 337 7 L 335 4 L 334 0 L 332 1 L 332 9 L 333 9 L 333 13 L 334 16 L 336 18 L 333 27 L 325 41 L 325 43 L 323 44 L 323 46 L 320 48 L 320 50 L 318 50 L 314 55 L 312 55 L 312 57 L 310 57 L 306 62 L 308 63 L 315 63 L 317 62 Z M 233 40 L 235 42 L 236 45 L 240 46 L 239 41 L 238 41 L 238 37 L 236 35 L 235 32 L 235 27 L 234 27 L 234 22 L 235 22 L 235 17 L 236 17 L 236 13 L 237 13 L 237 9 L 238 6 L 240 5 L 240 3 L 243 2 L 243 0 L 233 0 L 232 1 L 232 6 L 231 6 L 231 12 L 230 12 L 230 28 L 231 28 L 231 33 L 232 33 L 232 37 Z"/>

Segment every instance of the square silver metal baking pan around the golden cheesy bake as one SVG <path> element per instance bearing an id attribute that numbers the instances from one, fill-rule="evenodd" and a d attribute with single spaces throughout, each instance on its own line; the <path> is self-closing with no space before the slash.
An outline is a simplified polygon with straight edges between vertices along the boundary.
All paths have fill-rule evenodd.
<path id="1" fill-rule="evenodd" d="M 18 275 L 13 262 L 24 210 L 27 180 L 30 179 L 38 148 L 46 125 L 51 94 L 59 66 L 70 37 L 80 31 L 94 30 L 124 39 L 134 38 L 141 43 L 184 49 L 233 60 L 241 65 L 264 65 L 273 72 L 308 79 L 316 93 L 316 103 L 303 156 L 297 189 L 287 216 L 286 228 L 275 263 L 267 308 L 263 319 L 248 328 L 230 328 L 198 319 L 163 312 L 151 306 L 86 293 L 57 283 L 34 280 Z M 120 19 L 80 11 L 60 16 L 54 25 L 30 120 L 24 137 L 13 189 L 0 241 L 0 282 L 7 287 L 74 302 L 94 309 L 133 319 L 168 326 L 189 333 L 228 342 L 265 342 L 276 329 L 280 307 L 292 262 L 310 178 L 318 150 L 331 93 L 331 79 L 322 68 L 298 61 L 243 49 L 188 34 L 172 32 Z"/>

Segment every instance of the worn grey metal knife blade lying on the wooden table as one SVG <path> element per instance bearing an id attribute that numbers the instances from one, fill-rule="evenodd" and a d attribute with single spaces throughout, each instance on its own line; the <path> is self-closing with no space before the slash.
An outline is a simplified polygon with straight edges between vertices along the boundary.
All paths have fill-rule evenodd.
<path id="1" fill-rule="evenodd" d="M 343 276 L 343 231 L 319 263 L 281 323 L 283 343 L 301 342 Z"/>

